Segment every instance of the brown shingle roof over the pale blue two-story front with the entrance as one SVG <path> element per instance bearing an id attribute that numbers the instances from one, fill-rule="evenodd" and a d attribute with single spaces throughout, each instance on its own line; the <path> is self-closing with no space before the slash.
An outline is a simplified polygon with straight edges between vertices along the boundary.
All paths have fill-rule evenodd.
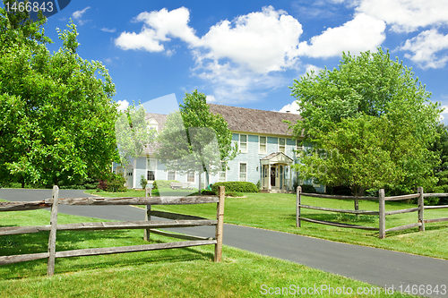
<path id="1" fill-rule="evenodd" d="M 300 115 L 280 113 L 272 111 L 263 111 L 253 108 L 237 106 L 221 106 L 209 104 L 210 110 L 214 114 L 220 114 L 228 123 L 230 131 L 234 132 L 255 132 L 277 135 L 292 135 L 288 131 L 288 123 L 283 120 L 289 120 L 291 123 L 297 123 L 302 120 Z"/>

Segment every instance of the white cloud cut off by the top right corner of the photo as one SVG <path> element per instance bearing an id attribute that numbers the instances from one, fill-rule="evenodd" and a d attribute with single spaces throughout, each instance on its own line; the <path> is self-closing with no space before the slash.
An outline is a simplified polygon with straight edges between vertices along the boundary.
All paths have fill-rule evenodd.
<path id="1" fill-rule="evenodd" d="M 386 21 L 396 32 L 448 24 L 448 4 L 444 0 L 352 0 L 359 13 Z"/>

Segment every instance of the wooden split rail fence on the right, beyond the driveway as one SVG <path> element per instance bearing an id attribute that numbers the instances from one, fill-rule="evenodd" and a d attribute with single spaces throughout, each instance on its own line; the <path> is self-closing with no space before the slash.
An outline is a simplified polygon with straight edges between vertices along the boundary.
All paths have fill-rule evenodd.
<path id="1" fill-rule="evenodd" d="M 304 205 L 301 203 L 302 196 L 321 198 L 321 199 L 336 199 L 336 200 L 375 200 L 378 201 L 378 211 L 369 211 L 369 210 L 349 210 L 349 209 L 332 209 L 332 208 L 323 208 L 316 206 Z M 347 228 L 356 228 L 362 230 L 369 231 L 378 231 L 379 238 L 383 239 L 385 237 L 386 232 L 395 232 L 406 230 L 414 227 L 418 227 L 418 231 L 425 231 L 425 224 L 427 223 L 436 223 L 448 221 L 448 217 L 444 218 L 434 218 L 434 219 L 425 219 L 424 218 L 424 210 L 425 209 L 448 209 L 448 205 L 442 206 L 425 206 L 424 199 L 428 197 L 448 197 L 448 193 L 424 193 L 422 187 L 418 187 L 418 193 L 406 194 L 395 197 L 385 197 L 384 190 L 381 189 L 379 191 L 378 197 L 352 197 L 352 196 L 340 196 L 340 195 L 327 195 L 320 193 L 304 193 L 302 192 L 302 188 L 300 186 L 297 187 L 297 201 L 296 201 L 296 226 L 301 226 L 301 220 L 315 223 L 315 224 L 323 224 L 328 226 L 339 226 L 339 227 L 347 227 Z M 410 200 L 418 198 L 418 207 L 410 208 L 410 209 L 400 209 L 393 211 L 385 211 L 385 201 L 386 200 Z M 364 214 L 364 215 L 376 215 L 379 216 L 379 225 L 375 226 L 358 226 L 358 225 L 349 225 L 343 223 L 335 223 L 331 221 L 325 220 L 317 220 L 312 218 L 302 217 L 301 209 L 314 209 L 314 210 L 322 210 L 322 211 L 331 211 L 331 212 L 339 212 L 339 213 L 349 213 L 349 214 Z M 395 226 L 389 229 L 386 229 L 386 216 L 393 214 L 401 214 L 401 213 L 409 213 L 409 212 L 418 212 L 418 222 L 414 224 L 409 224 L 405 226 Z"/>

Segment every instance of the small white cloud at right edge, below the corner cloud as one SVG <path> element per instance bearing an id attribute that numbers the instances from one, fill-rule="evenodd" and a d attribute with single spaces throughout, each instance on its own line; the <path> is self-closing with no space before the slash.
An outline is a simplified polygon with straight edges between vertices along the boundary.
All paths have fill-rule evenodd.
<path id="1" fill-rule="evenodd" d="M 441 68 L 448 62 L 448 53 L 435 55 L 448 49 L 448 35 L 440 34 L 436 29 L 426 30 L 417 37 L 406 40 L 400 50 L 408 50 L 412 55 L 404 56 L 419 64 L 422 68 Z"/>

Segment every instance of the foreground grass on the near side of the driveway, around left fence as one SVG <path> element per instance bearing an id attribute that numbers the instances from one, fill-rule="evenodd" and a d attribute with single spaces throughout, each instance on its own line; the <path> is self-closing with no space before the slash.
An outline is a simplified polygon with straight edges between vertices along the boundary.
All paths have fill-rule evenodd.
<path id="1" fill-rule="evenodd" d="M 2 226 L 47 225 L 46 210 L 1 212 Z M 104 221 L 59 214 L 58 223 Z M 47 251 L 48 233 L 0 237 L 0 255 Z M 151 235 L 151 243 L 170 241 Z M 177 240 L 176 240 L 177 241 Z M 138 245 L 141 230 L 58 232 L 56 251 L 93 247 Z M 46 277 L 46 260 L 0 267 L 0 293 L 4 297 L 255 297 L 263 289 L 285 291 L 330 285 L 370 290 L 373 286 L 306 266 L 264 257 L 228 246 L 223 261 L 214 263 L 213 246 L 144 251 L 80 258 L 56 259 L 56 275 Z M 292 287 L 290 286 L 292 285 Z M 263 286 L 263 287 L 262 287 Z M 277 290 L 276 287 L 279 287 Z M 286 294 L 286 293 L 284 293 Z M 289 292 L 292 294 L 292 292 Z M 338 297 L 340 294 L 323 294 Z M 353 295 L 355 296 L 355 295 Z M 405 297 L 361 294 L 357 297 Z"/>

